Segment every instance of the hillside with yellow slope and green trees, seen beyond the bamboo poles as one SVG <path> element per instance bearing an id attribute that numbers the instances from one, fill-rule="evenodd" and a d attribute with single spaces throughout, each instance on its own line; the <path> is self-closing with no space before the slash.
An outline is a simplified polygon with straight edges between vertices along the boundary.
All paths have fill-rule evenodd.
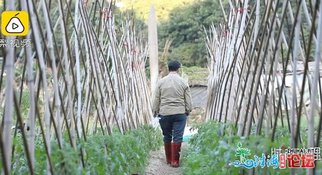
<path id="1" fill-rule="evenodd" d="M 173 42 L 169 48 L 168 60 L 178 60 L 186 67 L 198 66 L 205 67 L 207 60 L 207 52 L 205 49 L 205 30 L 208 30 L 209 26 L 213 23 L 215 26 L 223 22 L 222 10 L 218 1 L 213 0 L 197 0 L 197 1 L 168 1 L 167 4 L 160 3 L 161 1 L 120 1 L 123 2 L 125 9 L 133 7 L 133 11 L 136 13 L 138 19 L 146 21 L 148 16 L 148 10 L 151 3 L 153 3 L 158 21 L 158 45 L 159 56 L 162 55 L 166 40 L 170 37 Z M 296 6 L 296 1 L 290 1 L 291 6 Z M 256 1 L 249 1 L 249 10 L 255 8 Z M 228 1 L 222 1 L 222 6 L 225 12 L 229 12 Z M 239 5 L 243 6 L 243 5 Z M 264 9 L 264 2 L 261 3 L 261 9 Z M 283 1 L 278 4 L 278 11 L 281 13 Z M 306 2 L 306 6 L 309 11 L 312 9 L 312 5 Z M 169 12 L 168 12 L 169 11 Z M 261 16 L 264 14 L 264 10 L 260 10 Z M 166 17 L 169 15 L 168 17 Z M 250 14 L 251 15 L 251 14 Z M 293 12 L 295 15 L 295 12 Z M 286 23 L 284 28 L 288 31 L 292 29 L 291 17 L 286 15 Z M 309 35 L 308 25 L 305 20 L 305 15 L 302 13 L 302 25 L 301 35 L 307 38 Z M 205 27 L 205 28 L 203 28 Z M 143 28 L 147 28 L 143 25 Z M 249 28 L 251 30 L 251 27 Z M 146 32 L 147 35 L 147 32 Z M 289 40 L 289 36 L 285 35 L 286 40 Z M 307 45 L 306 40 L 301 40 L 301 43 Z M 285 46 L 283 47 L 283 56 L 287 54 Z M 311 48 L 311 54 L 314 53 L 315 48 Z M 313 59 L 309 56 L 309 61 Z M 282 55 L 280 55 L 280 62 L 282 62 Z"/>

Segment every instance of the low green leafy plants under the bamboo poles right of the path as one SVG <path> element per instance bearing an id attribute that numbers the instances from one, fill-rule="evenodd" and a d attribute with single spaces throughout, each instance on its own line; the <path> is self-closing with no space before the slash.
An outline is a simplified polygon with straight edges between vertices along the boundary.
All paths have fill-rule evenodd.
<path id="1" fill-rule="evenodd" d="M 254 155 L 262 157 L 262 153 L 271 155 L 271 148 L 288 145 L 290 140 L 287 128 L 277 128 L 274 142 L 266 139 L 263 134 L 256 136 L 254 134 L 255 127 L 252 128 L 252 134 L 249 139 L 236 135 L 230 136 L 228 134 L 230 130 L 235 132 L 236 128 L 229 123 L 223 124 L 210 121 L 198 125 L 195 128 L 198 128 L 198 134 L 195 134 L 190 140 L 190 145 L 182 150 L 183 174 L 243 174 L 243 171 L 245 172 L 244 174 L 248 174 L 250 169 L 244 166 L 234 167 L 233 165 L 229 165 L 230 162 L 238 160 L 235 154 L 236 149 L 238 150 L 241 144 L 244 147 L 242 149 L 250 150 L 238 150 L 238 152 L 241 152 L 241 157 L 254 159 Z M 301 131 L 301 133 L 304 133 L 304 131 Z M 305 135 L 302 135 L 302 137 L 306 138 Z M 305 142 L 306 140 L 304 140 Z M 302 146 L 301 144 L 299 145 L 299 147 Z M 244 156 L 242 155 L 243 153 Z M 321 174 L 321 161 L 315 161 L 314 163 L 315 173 Z M 264 171 L 267 174 L 290 173 L 290 168 L 280 169 L 271 166 L 261 168 L 259 166 L 255 168 L 255 174 L 264 174 Z M 304 168 L 295 168 L 295 173 L 306 174 L 306 171 Z"/>

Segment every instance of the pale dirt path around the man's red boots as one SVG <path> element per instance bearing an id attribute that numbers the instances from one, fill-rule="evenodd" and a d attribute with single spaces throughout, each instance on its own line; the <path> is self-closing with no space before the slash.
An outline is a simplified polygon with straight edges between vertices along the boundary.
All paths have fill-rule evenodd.
<path id="1" fill-rule="evenodd" d="M 183 142 L 181 147 L 186 146 L 188 143 Z M 181 162 L 180 162 L 181 163 Z M 166 163 L 165 148 L 153 151 L 146 167 L 146 175 L 180 175 L 180 166 L 172 167 Z"/>

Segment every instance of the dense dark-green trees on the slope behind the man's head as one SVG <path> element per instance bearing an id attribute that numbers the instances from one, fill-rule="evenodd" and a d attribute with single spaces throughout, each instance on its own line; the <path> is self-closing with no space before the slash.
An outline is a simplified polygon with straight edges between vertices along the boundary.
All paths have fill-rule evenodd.
<path id="1" fill-rule="evenodd" d="M 223 2 L 228 8 L 228 2 Z M 166 40 L 173 39 L 168 60 L 178 60 L 184 66 L 205 67 L 207 53 L 204 28 L 223 20 L 217 1 L 195 1 L 188 6 L 176 7 L 169 13 L 169 19 L 158 25 L 159 48 L 163 50 Z"/>

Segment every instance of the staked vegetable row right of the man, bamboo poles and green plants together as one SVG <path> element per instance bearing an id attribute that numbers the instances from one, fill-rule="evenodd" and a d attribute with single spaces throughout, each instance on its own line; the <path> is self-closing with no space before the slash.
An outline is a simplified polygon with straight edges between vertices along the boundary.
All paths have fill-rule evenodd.
<path id="1" fill-rule="evenodd" d="M 230 11 L 222 11 L 223 23 L 206 31 L 210 75 L 205 120 L 217 122 L 198 126 L 183 173 L 320 174 L 320 152 L 315 152 L 314 168 L 290 168 L 291 159 L 285 159 L 285 169 L 280 168 L 284 162 L 275 168 L 269 162 L 281 147 L 321 148 L 322 4 L 229 4 Z M 310 58 L 313 69 L 308 69 Z M 298 63 L 304 70 L 297 71 Z M 261 161 L 267 164 L 255 165 L 254 156 L 262 154 L 270 158 Z"/>

